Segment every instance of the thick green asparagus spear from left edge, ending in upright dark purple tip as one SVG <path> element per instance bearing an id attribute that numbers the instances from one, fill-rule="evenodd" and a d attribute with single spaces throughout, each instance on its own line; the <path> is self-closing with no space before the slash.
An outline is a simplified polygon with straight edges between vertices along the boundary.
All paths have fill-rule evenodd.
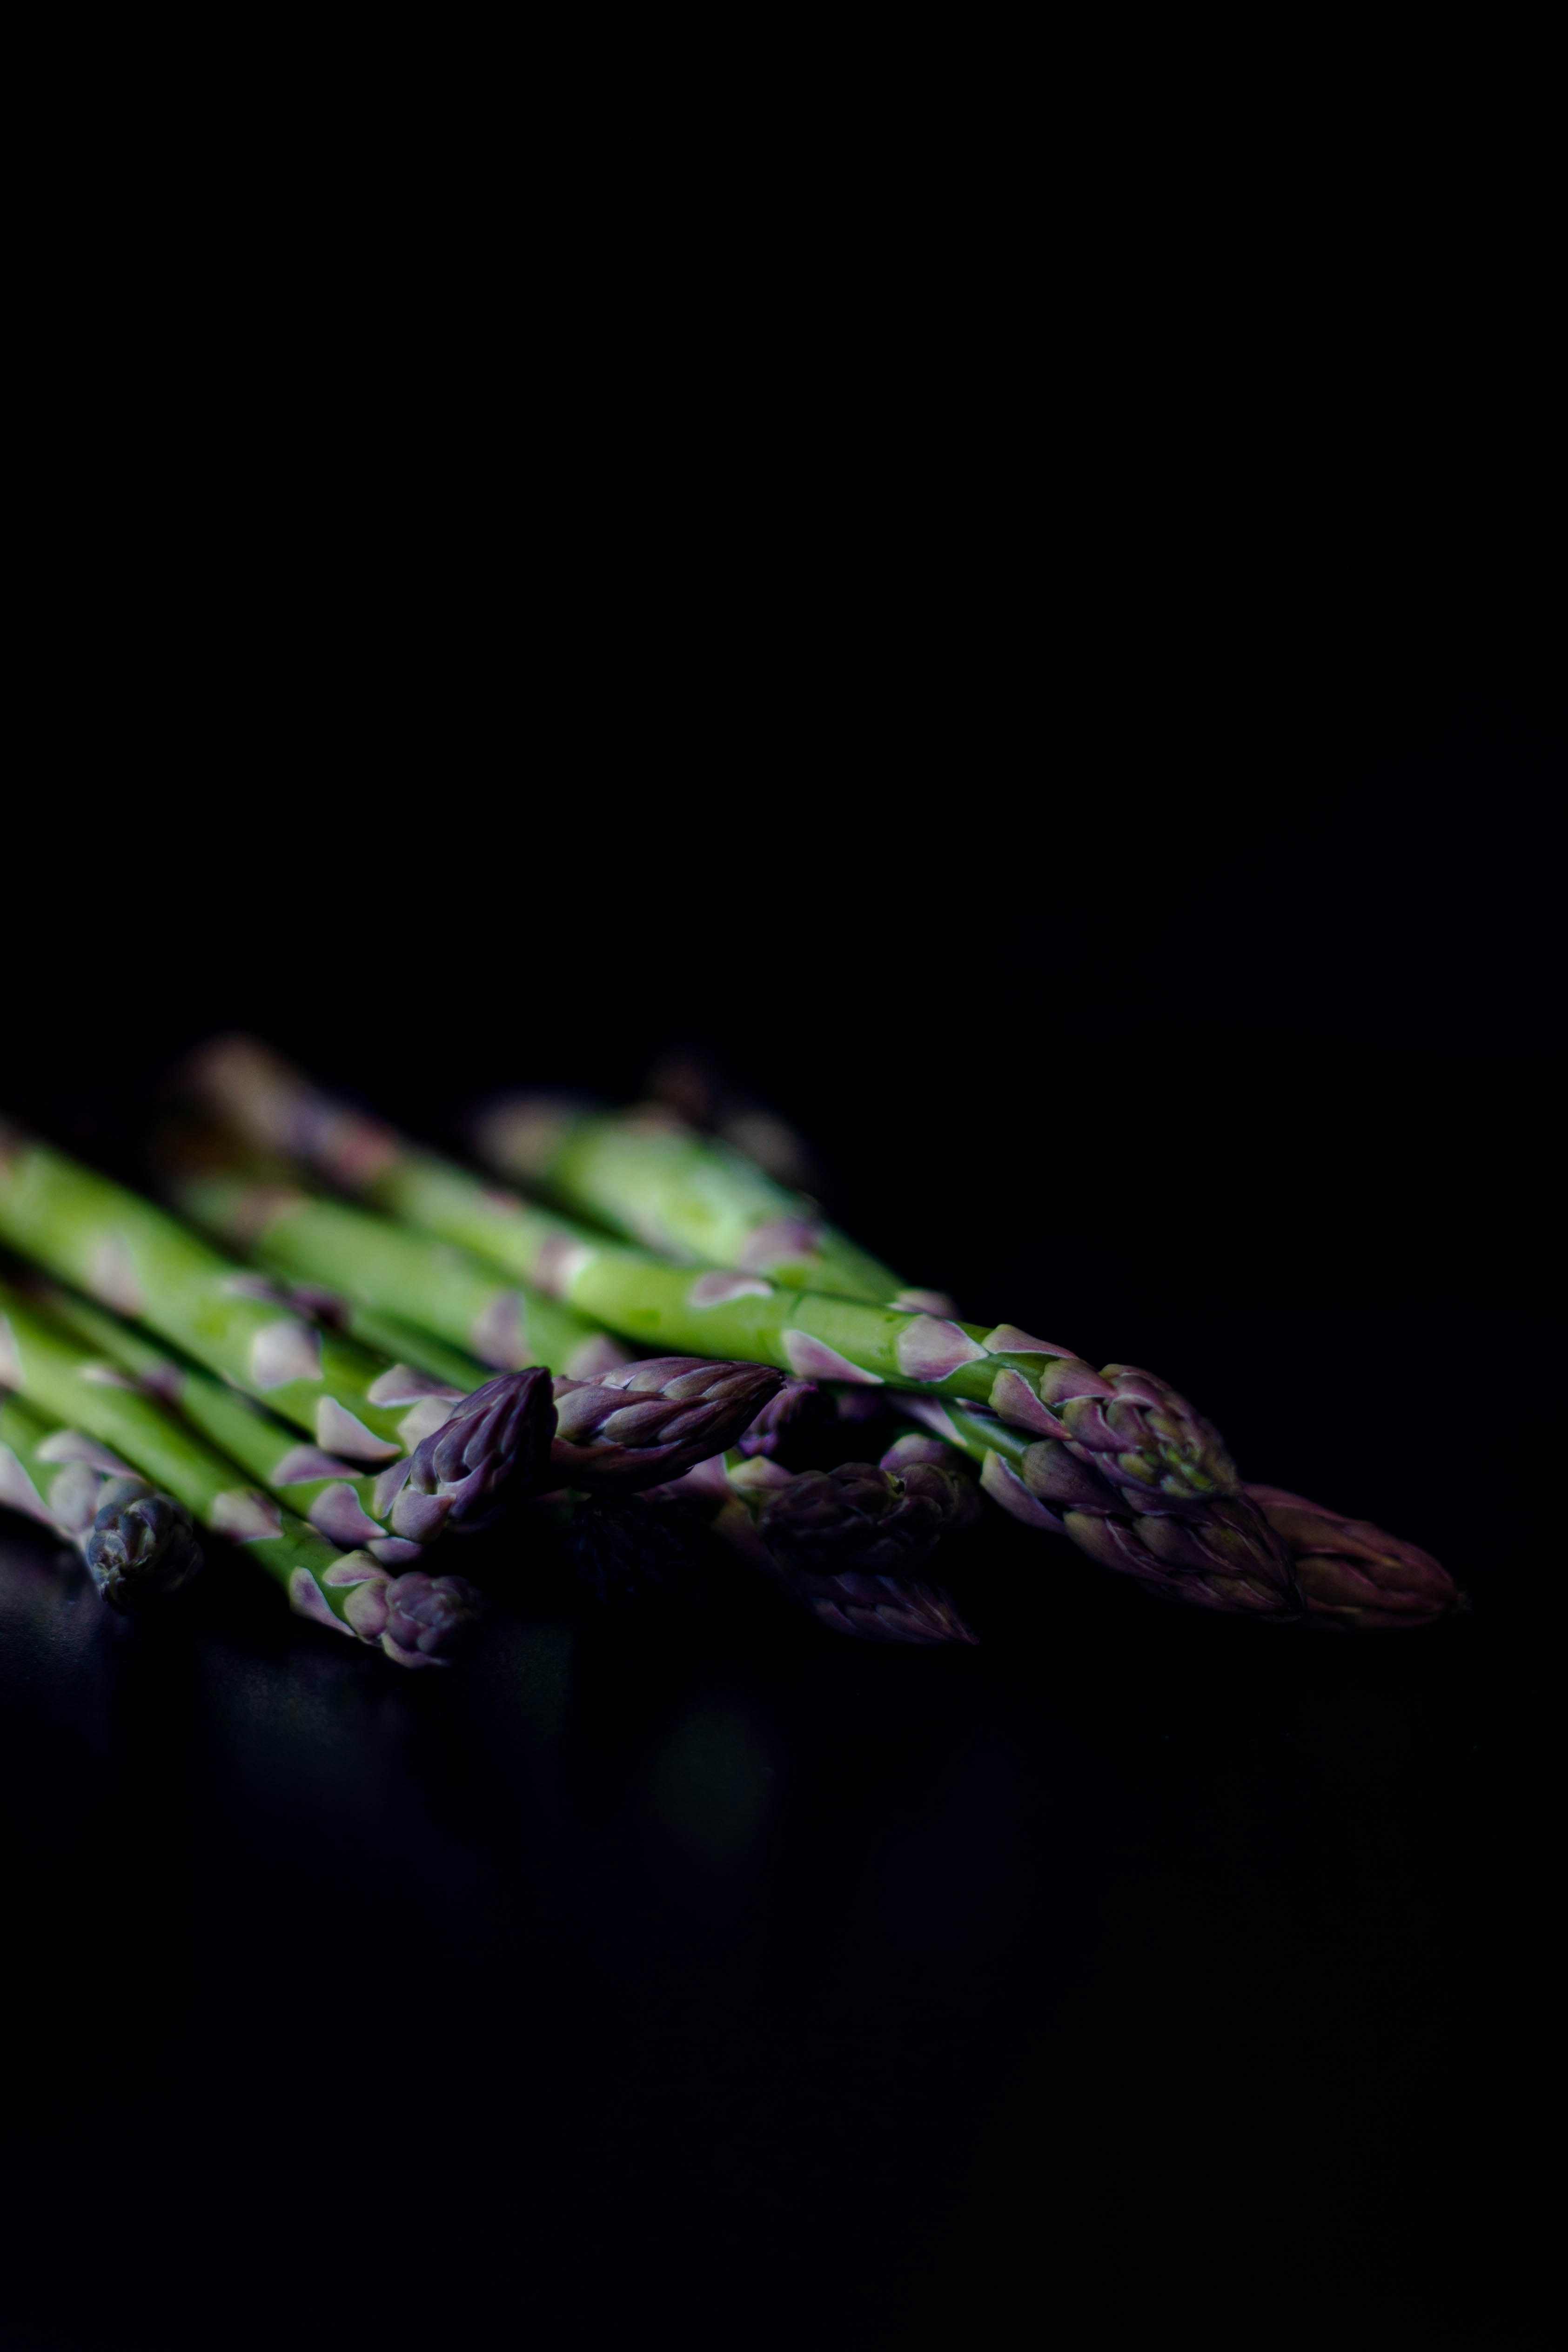
<path id="1" fill-rule="evenodd" d="M 306 1322 L 254 1268 L 221 1258 L 153 1202 L 14 1131 L 0 1131 L 0 1235 L 263 1399 L 282 1421 L 306 1430 L 329 1461 L 355 1472 L 402 1470 L 440 1425 L 430 1383 L 414 1378 L 409 1367 L 388 1369 L 353 1341 Z M 517 1461 L 494 1463 L 484 1491 L 517 1484 L 543 1461 L 545 1388 L 522 1374 L 512 1378 L 512 1399 L 534 1399 L 531 1414 L 491 1414 L 482 1428 L 496 1442 L 527 1432 L 534 1442 Z M 470 1423 L 468 1442 L 477 1428 Z M 402 1470 L 378 1479 L 369 1515 L 386 1519 L 404 1484 L 418 1489 L 418 1477 L 409 1479 Z M 364 1501 L 364 1491 L 357 1494 Z M 381 1505 L 378 1496 L 386 1496 Z M 433 1486 L 425 1501 L 437 1496 Z M 451 1491 L 440 1498 L 449 1524 L 461 1526 L 463 1496 Z M 395 1526 L 393 1534 L 407 1529 Z"/>

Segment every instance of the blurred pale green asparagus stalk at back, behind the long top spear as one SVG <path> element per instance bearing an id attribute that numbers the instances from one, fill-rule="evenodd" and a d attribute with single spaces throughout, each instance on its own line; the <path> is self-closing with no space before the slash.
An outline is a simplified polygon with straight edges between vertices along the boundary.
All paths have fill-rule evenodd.
<path id="1" fill-rule="evenodd" d="M 609 1112 L 510 1094 L 480 1115 L 475 1145 L 512 1183 L 679 1265 L 731 1265 L 795 1291 L 952 1315 L 943 1294 L 907 1289 L 804 1192 L 663 1105 Z"/>

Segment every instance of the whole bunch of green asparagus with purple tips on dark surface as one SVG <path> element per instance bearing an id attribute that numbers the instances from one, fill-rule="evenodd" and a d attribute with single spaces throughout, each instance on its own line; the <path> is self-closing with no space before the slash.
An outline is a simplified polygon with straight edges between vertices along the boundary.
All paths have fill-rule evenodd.
<path id="1" fill-rule="evenodd" d="M 209 1124 L 167 1162 L 179 1216 L 0 1131 L 0 1242 L 26 1261 L 0 1279 L 24 1414 L 0 1501 L 71 1517 L 120 1606 L 190 1573 L 195 1519 L 306 1616 L 447 1663 L 480 1599 L 428 1548 L 555 1498 L 604 1590 L 705 1519 L 837 1632 L 969 1642 L 914 1571 L 983 1496 L 1206 1609 L 1371 1628 L 1458 1604 L 1413 1545 L 1244 1486 L 1157 1376 L 964 1322 L 665 1105 L 491 1105 L 480 1157 L 522 1192 L 254 1040 L 188 1075 Z M 844 1461 L 872 1421 L 877 1458 Z M 94 1494 L 108 1524 L 82 1538 L 87 1494 L 45 1498 L 40 1446 L 143 1486 Z"/>

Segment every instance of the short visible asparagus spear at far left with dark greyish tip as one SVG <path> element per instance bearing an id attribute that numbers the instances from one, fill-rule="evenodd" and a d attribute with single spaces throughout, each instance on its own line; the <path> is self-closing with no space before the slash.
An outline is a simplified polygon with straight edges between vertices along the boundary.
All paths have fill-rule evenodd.
<path id="1" fill-rule="evenodd" d="M 73 1543 L 101 1597 L 127 1616 L 172 1599 L 202 1566 L 190 1512 L 174 1496 L 153 1494 L 101 1439 L 5 1392 L 0 1503 Z"/>

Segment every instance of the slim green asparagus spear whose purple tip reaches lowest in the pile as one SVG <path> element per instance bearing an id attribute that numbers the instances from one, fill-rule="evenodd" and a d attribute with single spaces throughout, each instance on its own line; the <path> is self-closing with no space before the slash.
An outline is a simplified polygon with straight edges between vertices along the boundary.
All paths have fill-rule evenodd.
<path id="1" fill-rule="evenodd" d="M 244 1472 L 167 1406 L 99 1378 L 101 1362 L 0 1282 L 0 1385 L 122 1454 L 190 1517 L 247 1550 L 317 1625 L 378 1644 L 400 1665 L 449 1658 L 475 1618 L 461 1576 L 390 1576 L 364 1550 L 339 1552 L 306 1519 L 244 1484 Z"/>

